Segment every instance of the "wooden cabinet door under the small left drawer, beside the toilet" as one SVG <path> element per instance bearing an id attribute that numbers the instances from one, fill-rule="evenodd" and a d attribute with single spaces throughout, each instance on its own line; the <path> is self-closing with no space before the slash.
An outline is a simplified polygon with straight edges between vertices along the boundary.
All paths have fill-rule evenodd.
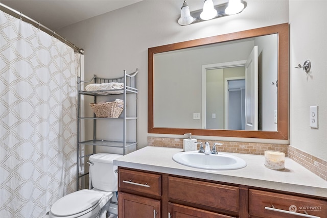
<path id="1" fill-rule="evenodd" d="M 119 192 L 119 218 L 160 218 L 160 201 Z"/>

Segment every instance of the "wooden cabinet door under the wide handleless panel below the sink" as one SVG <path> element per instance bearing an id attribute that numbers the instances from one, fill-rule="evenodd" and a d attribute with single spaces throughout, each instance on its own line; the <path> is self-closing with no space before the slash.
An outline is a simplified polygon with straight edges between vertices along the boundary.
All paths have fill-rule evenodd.
<path id="1" fill-rule="evenodd" d="M 222 215 L 206 210 L 192 208 L 184 205 L 169 203 L 168 211 L 171 218 L 232 218 L 232 216 Z"/>

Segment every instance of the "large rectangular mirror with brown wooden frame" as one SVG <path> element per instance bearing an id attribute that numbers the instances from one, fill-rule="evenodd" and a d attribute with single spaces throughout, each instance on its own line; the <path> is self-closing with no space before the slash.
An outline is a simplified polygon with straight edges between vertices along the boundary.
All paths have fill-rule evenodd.
<path id="1" fill-rule="evenodd" d="M 148 52 L 149 133 L 288 139 L 288 23 Z M 255 62 L 247 60 L 252 52 L 258 61 L 247 65 Z M 232 87 L 242 80 L 244 87 Z M 233 95 L 244 96 L 237 106 L 232 106 Z M 236 119 L 236 125 L 231 120 L 237 116 L 243 118 Z"/>

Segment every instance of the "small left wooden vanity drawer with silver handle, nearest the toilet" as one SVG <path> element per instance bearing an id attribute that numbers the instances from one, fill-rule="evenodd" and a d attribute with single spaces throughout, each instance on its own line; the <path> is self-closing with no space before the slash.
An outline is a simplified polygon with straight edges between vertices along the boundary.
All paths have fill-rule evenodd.
<path id="1" fill-rule="evenodd" d="M 161 196 L 161 175 L 120 168 L 118 181 L 118 190 L 132 190 Z"/>

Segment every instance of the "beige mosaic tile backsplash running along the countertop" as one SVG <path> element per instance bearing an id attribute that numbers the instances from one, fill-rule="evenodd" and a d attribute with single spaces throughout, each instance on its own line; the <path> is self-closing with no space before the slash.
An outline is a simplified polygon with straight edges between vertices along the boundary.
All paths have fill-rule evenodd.
<path id="1" fill-rule="evenodd" d="M 202 142 L 203 144 L 205 141 L 208 141 L 210 144 L 213 144 L 214 142 L 222 143 L 222 146 L 217 147 L 218 152 L 264 155 L 266 150 L 281 151 L 285 153 L 286 157 L 293 159 L 295 162 L 301 164 L 314 174 L 327 181 L 327 161 L 319 159 L 306 152 L 302 152 L 287 144 L 250 143 L 199 139 L 197 141 Z M 182 149 L 183 139 L 148 137 L 148 146 Z"/>

